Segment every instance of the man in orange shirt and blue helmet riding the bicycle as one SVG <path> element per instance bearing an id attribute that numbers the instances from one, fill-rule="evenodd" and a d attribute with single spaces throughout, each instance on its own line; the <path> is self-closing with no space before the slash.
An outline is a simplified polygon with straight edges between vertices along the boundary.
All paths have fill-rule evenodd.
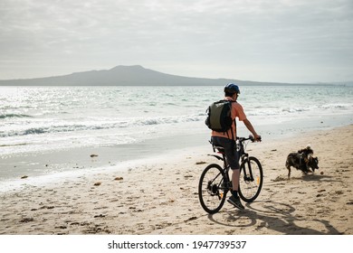
<path id="1" fill-rule="evenodd" d="M 224 87 L 224 99 L 233 101 L 232 103 L 232 127 L 227 132 L 217 132 L 212 131 L 211 141 L 214 145 L 219 145 L 224 147 L 225 157 L 227 159 L 228 164 L 230 165 L 233 174 L 232 174 L 232 182 L 233 182 L 233 191 L 232 196 L 228 199 L 228 202 L 233 204 L 236 208 L 243 210 L 243 204 L 240 201 L 238 196 L 239 189 L 239 180 L 240 180 L 240 165 L 239 165 L 239 157 L 236 152 L 236 124 L 235 117 L 238 117 L 239 121 L 243 121 L 243 124 L 248 128 L 248 130 L 253 134 L 255 141 L 261 141 L 261 136 L 257 135 L 255 129 L 253 128 L 252 123 L 249 119 L 246 118 L 245 113 L 243 111 L 243 107 L 236 102 L 240 94 L 240 89 L 234 83 L 228 83 Z"/>

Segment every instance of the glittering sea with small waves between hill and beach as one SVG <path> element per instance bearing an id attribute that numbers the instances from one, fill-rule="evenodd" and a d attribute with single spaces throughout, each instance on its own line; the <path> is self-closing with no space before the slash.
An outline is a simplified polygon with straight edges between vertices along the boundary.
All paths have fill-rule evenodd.
<path id="1" fill-rule="evenodd" d="M 129 146 L 129 160 L 162 139 L 207 145 L 205 109 L 221 98 L 223 86 L 0 87 L 0 181 L 18 176 L 11 158 Z M 353 123 L 352 86 L 244 86 L 238 102 L 263 141 Z"/>

